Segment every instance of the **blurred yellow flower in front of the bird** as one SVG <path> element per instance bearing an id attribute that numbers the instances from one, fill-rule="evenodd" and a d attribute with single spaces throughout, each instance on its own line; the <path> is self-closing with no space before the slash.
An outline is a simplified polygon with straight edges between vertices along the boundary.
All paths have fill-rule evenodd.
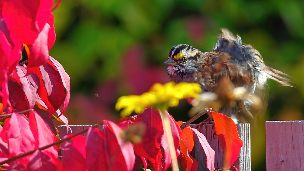
<path id="1" fill-rule="evenodd" d="M 149 92 L 140 96 L 122 96 L 117 100 L 115 108 L 121 111 L 122 116 L 129 116 L 133 111 L 142 113 L 146 107 L 156 106 L 158 108 L 166 106 L 178 106 L 180 99 L 189 97 L 198 98 L 201 93 L 201 86 L 197 83 L 182 82 L 175 84 L 169 82 L 164 85 L 154 84 Z"/>

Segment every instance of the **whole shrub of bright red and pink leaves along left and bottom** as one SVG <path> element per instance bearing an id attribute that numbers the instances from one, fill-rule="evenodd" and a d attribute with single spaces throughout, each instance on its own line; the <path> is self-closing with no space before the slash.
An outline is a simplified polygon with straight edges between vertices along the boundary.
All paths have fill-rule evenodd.
<path id="1" fill-rule="evenodd" d="M 66 124 L 68 131 L 62 113 L 70 100 L 70 77 L 49 56 L 56 40 L 52 6 L 51 0 L 0 2 L 0 120 L 4 121 L 0 169 L 131 171 L 143 167 L 163 171 L 176 155 L 184 170 L 197 170 L 198 163 L 190 154 L 196 137 L 206 154 L 206 167 L 214 171 L 215 152 L 205 136 L 190 127 L 181 130 L 181 122 L 157 108 L 146 108 L 116 123 L 104 120 L 101 130 L 90 127 L 86 136 L 67 135 L 60 140 L 51 117 Z M 28 60 L 18 65 L 22 51 Z M 154 89 L 157 92 L 157 86 Z M 177 105 L 176 99 L 168 100 Z M 243 142 L 230 118 L 211 114 L 229 168 Z"/>

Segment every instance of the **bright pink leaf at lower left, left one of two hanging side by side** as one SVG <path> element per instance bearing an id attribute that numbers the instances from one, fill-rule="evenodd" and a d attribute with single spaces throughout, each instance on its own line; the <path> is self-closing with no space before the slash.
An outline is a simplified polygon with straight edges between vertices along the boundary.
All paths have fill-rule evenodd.
<path id="1" fill-rule="evenodd" d="M 17 113 L 12 113 L 12 116 L 5 120 L 4 131 L 9 146 L 9 158 L 32 151 L 35 148 L 35 139 L 29 128 L 29 122 Z M 3 132 L 2 130 L 2 132 Z M 26 162 L 30 156 L 23 157 L 18 161 L 26 166 Z"/>

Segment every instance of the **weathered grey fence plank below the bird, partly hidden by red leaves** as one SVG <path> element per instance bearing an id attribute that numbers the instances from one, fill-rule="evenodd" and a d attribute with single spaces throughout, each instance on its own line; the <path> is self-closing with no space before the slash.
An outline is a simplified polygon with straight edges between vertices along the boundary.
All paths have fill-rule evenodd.
<path id="1" fill-rule="evenodd" d="M 196 127 L 196 125 L 190 125 L 190 127 Z M 223 167 L 224 165 L 224 152 L 219 144 L 219 139 L 214 134 L 214 128 L 212 124 L 206 124 L 199 130 L 206 136 L 211 148 L 215 151 L 215 167 Z M 244 145 L 241 147 L 240 156 L 233 166 L 237 167 L 240 171 L 251 170 L 251 146 L 250 146 L 250 124 L 237 124 L 237 131 Z M 198 142 L 195 140 L 195 142 Z M 208 171 L 206 168 L 206 155 L 202 147 L 198 143 L 194 144 L 194 158 L 198 161 L 200 171 Z"/>

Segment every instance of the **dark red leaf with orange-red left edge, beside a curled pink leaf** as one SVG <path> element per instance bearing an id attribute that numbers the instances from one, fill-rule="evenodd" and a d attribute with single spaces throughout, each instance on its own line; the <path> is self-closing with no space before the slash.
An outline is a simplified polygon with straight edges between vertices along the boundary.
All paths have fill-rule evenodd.
<path id="1" fill-rule="evenodd" d="M 49 63 L 40 65 L 39 69 L 34 68 L 33 72 L 40 79 L 41 87 L 38 95 L 46 104 L 51 115 L 59 109 L 66 97 L 60 73 Z"/>

